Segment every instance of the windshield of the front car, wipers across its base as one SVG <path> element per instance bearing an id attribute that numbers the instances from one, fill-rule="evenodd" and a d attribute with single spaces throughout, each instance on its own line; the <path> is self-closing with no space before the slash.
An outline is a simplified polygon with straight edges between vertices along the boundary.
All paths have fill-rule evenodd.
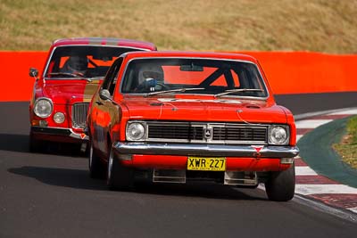
<path id="1" fill-rule="evenodd" d="M 267 89 L 253 62 L 201 58 L 148 58 L 129 62 L 121 93 L 213 94 L 267 97 Z"/>

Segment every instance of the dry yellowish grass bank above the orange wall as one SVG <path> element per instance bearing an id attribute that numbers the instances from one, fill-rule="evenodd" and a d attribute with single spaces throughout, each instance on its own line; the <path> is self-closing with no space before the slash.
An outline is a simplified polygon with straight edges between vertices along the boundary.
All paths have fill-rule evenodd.
<path id="1" fill-rule="evenodd" d="M 2 0 L 0 50 L 123 37 L 162 50 L 357 53 L 357 0 Z"/>

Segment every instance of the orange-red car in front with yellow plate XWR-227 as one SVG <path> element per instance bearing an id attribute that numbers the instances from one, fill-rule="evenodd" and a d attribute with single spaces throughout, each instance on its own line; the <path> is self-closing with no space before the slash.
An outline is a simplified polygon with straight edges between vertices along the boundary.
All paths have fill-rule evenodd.
<path id="1" fill-rule="evenodd" d="M 272 201 L 295 193 L 295 120 L 248 55 L 125 53 L 95 93 L 87 127 L 90 175 L 110 189 L 208 179 L 265 183 Z"/>

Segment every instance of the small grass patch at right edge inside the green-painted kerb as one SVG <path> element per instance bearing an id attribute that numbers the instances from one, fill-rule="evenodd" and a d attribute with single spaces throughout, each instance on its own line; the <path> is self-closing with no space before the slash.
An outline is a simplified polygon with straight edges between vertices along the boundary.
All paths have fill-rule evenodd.
<path id="1" fill-rule="evenodd" d="M 345 136 L 333 147 L 342 160 L 357 169 L 357 116 L 348 120 Z"/>

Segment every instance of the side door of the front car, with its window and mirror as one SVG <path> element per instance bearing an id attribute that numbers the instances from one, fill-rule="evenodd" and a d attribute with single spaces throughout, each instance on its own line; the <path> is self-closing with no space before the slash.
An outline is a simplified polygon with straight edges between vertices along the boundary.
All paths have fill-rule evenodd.
<path id="1" fill-rule="evenodd" d="M 108 70 L 104 78 L 99 94 L 103 90 L 108 90 L 112 97 L 122 60 L 123 59 L 120 57 L 113 62 L 112 67 Z M 101 157 L 107 158 L 109 153 L 108 148 L 111 144 L 111 136 L 109 135 L 112 126 L 111 120 L 113 117 L 117 117 L 119 108 L 111 99 L 103 99 L 98 95 L 95 96 L 93 104 L 94 108 L 92 113 L 95 113 L 95 120 L 93 121 L 95 127 L 93 145 L 95 146 L 96 151 L 102 155 Z"/>

